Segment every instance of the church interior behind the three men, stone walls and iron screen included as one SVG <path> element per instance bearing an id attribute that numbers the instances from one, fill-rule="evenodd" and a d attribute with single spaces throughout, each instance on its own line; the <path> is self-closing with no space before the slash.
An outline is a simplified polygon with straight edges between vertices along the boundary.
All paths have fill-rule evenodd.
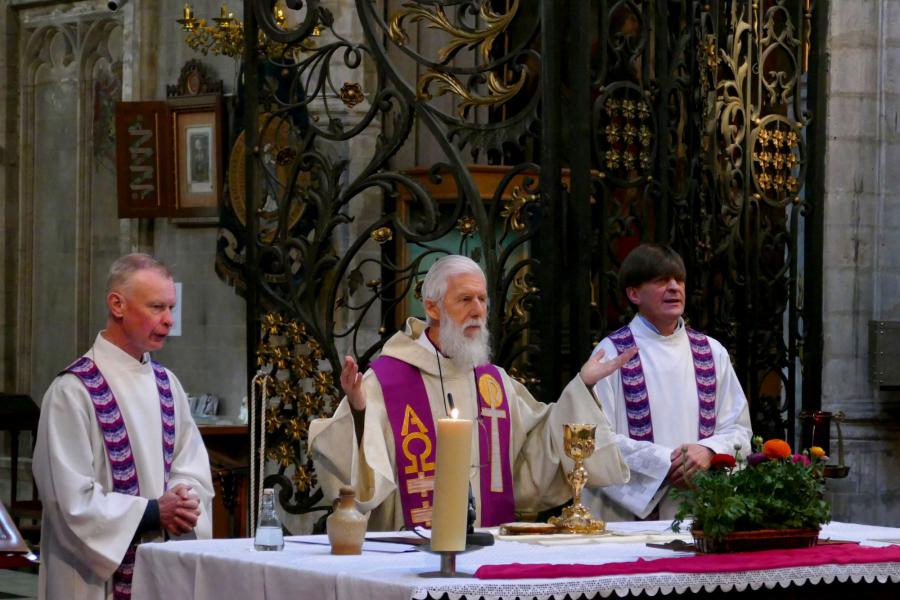
<path id="1" fill-rule="evenodd" d="M 159 359 L 220 415 L 268 398 L 300 532 L 330 373 L 419 314 L 436 255 L 482 263 L 497 362 L 550 399 L 627 318 L 621 257 L 661 241 L 755 430 L 842 413 L 834 519 L 900 523 L 900 2 L 117 4 L 2 3 L 4 398 L 39 403 L 102 327 L 111 261 L 152 253 L 181 283 Z M 194 126 L 211 158 L 175 140 Z"/>

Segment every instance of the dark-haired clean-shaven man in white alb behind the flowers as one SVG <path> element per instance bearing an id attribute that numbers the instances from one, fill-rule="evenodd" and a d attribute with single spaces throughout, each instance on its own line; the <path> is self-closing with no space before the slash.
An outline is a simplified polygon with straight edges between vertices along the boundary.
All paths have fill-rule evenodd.
<path id="1" fill-rule="evenodd" d="M 609 521 L 671 519 L 669 495 L 713 454 L 744 456 L 750 414 L 728 351 L 685 325 L 684 261 L 671 248 L 642 244 L 619 269 L 619 286 L 638 314 L 595 348 L 595 356 L 631 354 L 594 391 L 631 470 L 625 485 L 585 488 L 584 504 Z"/>

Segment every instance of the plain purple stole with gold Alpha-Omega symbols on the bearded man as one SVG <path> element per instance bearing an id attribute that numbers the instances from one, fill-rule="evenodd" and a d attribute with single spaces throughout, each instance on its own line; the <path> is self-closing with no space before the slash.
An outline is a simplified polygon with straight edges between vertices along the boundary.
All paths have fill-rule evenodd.
<path id="1" fill-rule="evenodd" d="M 381 385 L 394 436 L 403 519 L 408 529 L 416 525 L 430 527 L 437 435 L 425 382 L 419 369 L 391 356 L 381 356 L 371 368 Z M 509 402 L 502 381 L 500 371 L 493 365 L 475 369 L 483 527 L 507 523 L 515 517 Z M 485 417 L 490 419 L 489 425 L 485 424 Z M 489 462 L 485 464 L 486 459 Z"/>

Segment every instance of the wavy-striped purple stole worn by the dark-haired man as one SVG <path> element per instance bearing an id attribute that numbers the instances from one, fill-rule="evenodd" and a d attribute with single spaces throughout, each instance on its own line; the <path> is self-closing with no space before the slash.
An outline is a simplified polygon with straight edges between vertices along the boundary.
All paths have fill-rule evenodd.
<path id="1" fill-rule="evenodd" d="M 713 362 L 709 339 L 699 331 L 685 327 L 694 359 L 694 377 L 697 381 L 697 400 L 700 403 L 698 439 L 705 439 L 716 431 L 716 365 Z M 609 335 L 609 339 L 622 354 L 635 345 L 631 328 L 625 326 Z M 653 441 L 653 422 L 650 418 L 650 398 L 644 380 L 640 352 L 619 370 L 622 391 L 625 396 L 625 414 L 628 418 L 628 435 L 633 440 Z"/>

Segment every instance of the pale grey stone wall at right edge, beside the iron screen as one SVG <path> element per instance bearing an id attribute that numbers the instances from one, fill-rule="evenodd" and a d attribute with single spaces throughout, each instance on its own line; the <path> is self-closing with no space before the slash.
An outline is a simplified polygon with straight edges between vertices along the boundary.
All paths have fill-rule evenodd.
<path id="1" fill-rule="evenodd" d="M 900 396 L 870 383 L 867 331 L 900 320 L 900 2 L 828 5 L 822 408 L 850 465 L 828 487 L 835 520 L 896 526 Z"/>

